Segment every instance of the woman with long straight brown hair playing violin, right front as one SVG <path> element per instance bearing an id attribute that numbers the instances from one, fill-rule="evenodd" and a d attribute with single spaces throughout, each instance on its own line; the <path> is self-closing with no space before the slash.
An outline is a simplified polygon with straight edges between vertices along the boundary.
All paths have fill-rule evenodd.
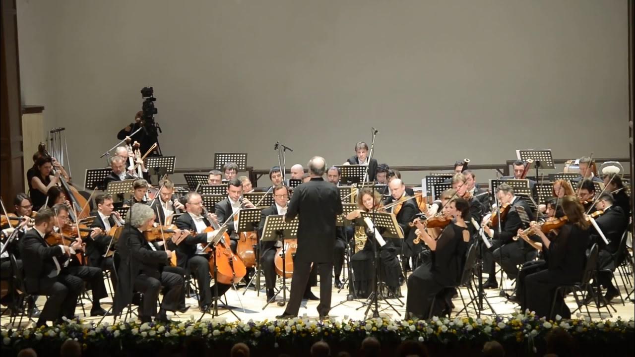
<path id="1" fill-rule="evenodd" d="M 589 222 L 584 217 L 584 208 L 575 196 L 565 196 L 562 208 L 568 218 L 553 239 L 542 232 L 540 224 L 531 222 L 530 234 L 540 237 L 542 249 L 547 252 L 547 269 L 528 274 L 524 287 L 519 290 L 521 309 L 535 311 L 537 316 L 548 320 L 556 314 L 571 318 L 571 311 L 558 295 L 554 304 L 554 316 L 549 316 L 554 290 L 557 286 L 570 285 L 580 280 L 586 260 L 585 250 L 589 244 Z M 519 231 L 519 234 L 524 234 Z"/>

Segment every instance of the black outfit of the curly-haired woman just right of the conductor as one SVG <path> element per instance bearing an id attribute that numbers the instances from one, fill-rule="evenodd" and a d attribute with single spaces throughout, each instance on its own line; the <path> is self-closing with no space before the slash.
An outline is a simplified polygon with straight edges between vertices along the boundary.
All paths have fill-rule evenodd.
<path id="1" fill-rule="evenodd" d="M 371 233 L 371 231 L 366 229 L 366 224 L 364 224 L 362 219 L 354 220 L 354 224 L 355 241 L 364 241 L 365 239 L 364 248 L 351 257 L 351 267 L 355 277 L 353 285 L 355 286 L 357 297 L 366 298 L 373 292 L 376 279 L 375 249 L 379 250 L 380 260 L 378 264 L 380 267 L 380 279 L 385 283 L 388 289 L 384 296 L 399 296 L 399 278 L 401 278 L 402 275 L 394 241 L 384 238 L 386 244 L 380 247 L 379 243 L 375 244 L 375 238 L 373 238 L 371 234 L 368 234 Z M 384 232 L 383 228 L 378 228 L 377 230 L 379 234 Z M 374 248 L 373 244 L 375 244 Z"/>

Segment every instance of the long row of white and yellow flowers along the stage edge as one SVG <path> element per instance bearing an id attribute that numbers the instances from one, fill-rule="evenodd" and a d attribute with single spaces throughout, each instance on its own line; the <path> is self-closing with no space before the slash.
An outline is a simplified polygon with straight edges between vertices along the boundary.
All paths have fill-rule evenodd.
<path id="1" fill-rule="evenodd" d="M 3 349 L 24 347 L 58 346 L 65 340 L 74 339 L 84 348 L 119 348 L 151 344 L 153 346 L 178 346 L 187 337 L 202 337 L 210 344 L 246 342 L 251 346 L 274 346 L 279 344 L 310 344 L 316 340 L 327 342 L 360 341 L 374 336 L 382 341 L 399 342 L 418 340 L 426 343 L 449 344 L 473 342 L 482 344 L 486 340 L 515 341 L 535 349 L 534 341 L 543 339 L 555 327 L 570 332 L 576 339 L 617 342 L 633 340 L 635 320 L 591 321 L 589 318 L 555 320 L 539 318 L 530 311 L 516 311 L 510 318 L 438 318 L 431 320 L 391 320 L 371 318 L 341 321 L 318 321 L 302 317 L 293 320 L 233 321 L 216 318 L 203 321 L 173 321 L 168 324 L 140 323 L 138 321 L 116 321 L 113 325 L 81 320 L 65 320 L 62 325 L 22 330 L 2 330 Z"/>

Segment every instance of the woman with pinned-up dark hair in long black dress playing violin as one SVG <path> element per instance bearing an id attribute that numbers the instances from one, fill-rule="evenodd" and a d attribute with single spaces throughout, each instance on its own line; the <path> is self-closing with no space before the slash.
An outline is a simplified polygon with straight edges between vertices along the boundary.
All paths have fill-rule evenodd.
<path id="1" fill-rule="evenodd" d="M 428 318 L 432 314 L 439 315 L 448 308 L 445 300 L 445 288 L 458 285 L 463 269 L 463 262 L 470 233 L 465 223 L 469 217 L 470 205 L 465 199 L 455 198 L 443 211 L 446 217 L 453 217 L 439 235 L 433 239 L 425 229 L 417 231 L 431 250 L 430 264 L 418 267 L 408 278 L 408 299 L 406 300 L 405 318 Z M 438 295 L 435 306 L 432 300 Z"/>

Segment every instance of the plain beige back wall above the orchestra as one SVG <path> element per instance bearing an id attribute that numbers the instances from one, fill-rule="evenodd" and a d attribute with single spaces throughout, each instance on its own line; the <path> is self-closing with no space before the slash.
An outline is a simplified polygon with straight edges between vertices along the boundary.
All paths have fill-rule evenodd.
<path id="1" fill-rule="evenodd" d="M 342 163 L 371 126 L 391 165 L 628 156 L 625 0 L 18 0 L 18 30 L 23 102 L 67 128 L 77 179 L 143 86 L 180 167 L 267 168 L 278 140 L 288 166 Z"/>

